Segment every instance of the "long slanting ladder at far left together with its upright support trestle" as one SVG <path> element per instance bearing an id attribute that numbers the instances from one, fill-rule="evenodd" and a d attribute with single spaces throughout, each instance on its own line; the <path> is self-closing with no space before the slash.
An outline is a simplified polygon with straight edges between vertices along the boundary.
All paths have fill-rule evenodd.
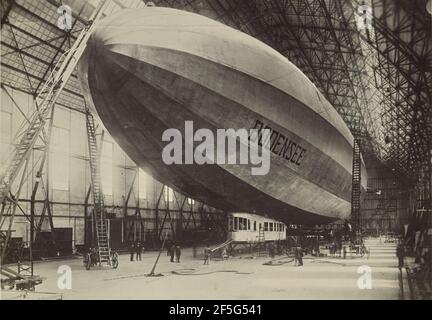
<path id="1" fill-rule="evenodd" d="M 42 180 L 42 171 L 45 167 L 45 160 L 48 155 L 50 135 L 52 129 L 52 121 L 54 107 L 62 90 L 65 88 L 69 78 L 75 71 L 76 65 L 83 54 L 87 41 L 92 34 L 92 31 L 97 21 L 102 17 L 106 1 L 101 1 L 95 9 L 91 23 L 89 23 L 76 38 L 72 47 L 63 53 L 58 59 L 56 65 L 47 76 L 38 91 L 35 99 L 35 111 L 30 117 L 26 117 L 21 128 L 15 137 L 15 144 L 7 164 L 5 171 L 0 176 L 0 233 L 1 233 L 1 261 L 4 262 L 6 254 L 9 253 L 9 241 L 12 234 L 12 226 L 16 211 L 19 208 L 19 197 L 21 189 L 28 178 L 27 169 L 30 164 L 30 157 L 34 150 L 42 151 L 42 156 L 39 160 L 39 171 L 36 175 L 36 183 L 32 192 L 32 209 L 30 217 L 30 266 L 23 268 L 24 271 L 30 272 L 33 275 L 33 256 L 32 247 L 34 241 L 34 200 L 39 183 Z M 3 21 L 2 21 L 3 22 Z M 47 127 L 48 125 L 48 129 Z M 15 182 L 17 186 L 15 186 Z M 48 183 L 48 180 L 47 180 Z M 48 190 L 46 189 L 46 201 L 49 201 Z M 54 234 L 54 225 L 52 215 L 50 214 L 49 204 L 45 206 L 48 210 L 51 233 Z M 45 210 L 43 211 L 45 212 Z M 41 220 L 42 221 L 42 220 Z M 38 227 L 41 222 L 38 224 Z M 3 264 L 2 264 L 3 268 Z M 29 271 L 30 270 L 30 271 Z"/>

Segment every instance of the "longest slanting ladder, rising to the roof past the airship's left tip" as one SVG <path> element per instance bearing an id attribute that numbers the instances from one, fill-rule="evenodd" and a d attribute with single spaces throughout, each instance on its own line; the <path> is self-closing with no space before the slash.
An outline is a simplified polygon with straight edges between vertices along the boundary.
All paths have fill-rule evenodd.
<path id="1" fill-rule="evenodd" d="M 51 110 L 54 108 L 57 98 L 68 82 L 71 74 L 74 72 L 77 63 L 87 46 L 88 39 L 90 38 L 97 21 L 102 17 L 107 4 L 108 1 L 106 0 L 101 0 L 99 2 L 99 5 L 94 10 L 89 20 L 90 23 L 81 31 L 73 46 L 60 57 L 53 70 L 48 75 L 45 84 L 35 97 L 34 113 L 18 131 L 10 157 L 11 160 L 6 167 L 5 172 L 0 176 L 0 227 L 4 225 L 6 213 L 10 220 L 8 229 L 10 230 L 12 227 L 21 187 L 26 176 L 26 167 L 30 155 L 32 154 L 32 150 L 41 133 L 44 133 L 45 135 L 44 128 L 50 117 Z M 23 167 L 24 170 L 21 170 Z M 17 188 L 17 191 L 13 193 L 11 187 L 20 172 L 21 178 L 19 187 Z M 5 247 L 7 246 L 9 239 L 10 232 L 7 233 L 7 239 L 4 244 Z"/>

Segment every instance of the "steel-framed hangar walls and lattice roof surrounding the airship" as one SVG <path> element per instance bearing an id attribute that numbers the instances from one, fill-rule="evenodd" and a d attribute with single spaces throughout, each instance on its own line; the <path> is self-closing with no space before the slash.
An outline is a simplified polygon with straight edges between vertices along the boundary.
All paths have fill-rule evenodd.
<path id="1" fill-rule="evenodd" d="M 72 25 L 62 29 L 58 23 L 65 5 L 71 9 Z M 126 251 L 137 240 L 155 250 L 165 241 L 186 247 L 226 240 L 227 212 L 159 183 L 88 115 L 74 70 L 34 144 L 20 145 L 19 134 L 38 114 L 38 95 L 92 24 L 96 8 L 102 6 L 101 18 L 146 5 L 215 19 L 294 63 L 342 116 L 365 161 L 367 190 L 362 194 L 361 177 L 353 174 L 352 225 L 364 236 L 404 237 L 412 256 L 424 263 L 425 252 L 432 250 L 430 1 L 2 0 L 3 264 L 16 263 L 16 252 L 28 255 L 31 247 L 33 274 L 33 259 L 71 256 L 91 245 L 94 181 L 89 144 L 95 142 L 101 150 L 100 163 L 94 165 L 100 171 L 111 248 Z M 88 135 L 89 121 L 93 136 Z M 30 151 L 7 181 L 11 155 L 26 147 Z M 360 154 L 356 156 L 356 149 L 353 154 L 354 172 Z M 338 224 L 293 227 L 316 231 Z M 428 272 L 422 283 L 429 282 L 430 290 L 430 266 Z"/>

